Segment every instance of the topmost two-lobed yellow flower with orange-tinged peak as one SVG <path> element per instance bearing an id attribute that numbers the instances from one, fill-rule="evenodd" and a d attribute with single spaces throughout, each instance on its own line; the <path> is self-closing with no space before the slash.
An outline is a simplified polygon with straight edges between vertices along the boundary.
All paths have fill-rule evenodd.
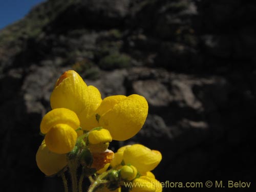
<path id="1" fill-rule="evenodd" d="M 50 97 L 52 109 L 67 108 L 74 111 L 80 120 L 80 126 L 87 131 L 99 126 L 95 110 L 101 101 L 99 90 L 87 86 L 73 70 L 66 71 L 59 77 Z"/>

